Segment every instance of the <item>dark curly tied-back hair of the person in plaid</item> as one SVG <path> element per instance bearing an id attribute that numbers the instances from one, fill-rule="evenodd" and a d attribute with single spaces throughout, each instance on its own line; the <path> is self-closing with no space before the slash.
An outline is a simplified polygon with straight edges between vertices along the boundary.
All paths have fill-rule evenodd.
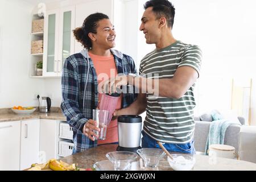
<path id="1" fill-rule="evenodd" d="M 88 34 L 90 32 L 96 34 L 99 26 L 98 22 L 102 19 L 109 19 L 108 15 L 103 13 L 94 13 L 87 16 L 82 24 L 82 27 L 75 28 L 73 34 L 78 42 L 82 44 L 86 49 L 92 48 L 92 40 L 90 40 Z"/>

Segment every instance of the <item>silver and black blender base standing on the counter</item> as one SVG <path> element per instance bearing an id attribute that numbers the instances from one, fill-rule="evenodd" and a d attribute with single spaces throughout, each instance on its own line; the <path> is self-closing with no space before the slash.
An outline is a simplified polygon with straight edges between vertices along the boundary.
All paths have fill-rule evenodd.
<path id="1" fill-rule="evenodd" d="M 141 148 L 142 118 L 139 115 L 121 115 L 118 121 L 117 151 L 136 152 Z"/>

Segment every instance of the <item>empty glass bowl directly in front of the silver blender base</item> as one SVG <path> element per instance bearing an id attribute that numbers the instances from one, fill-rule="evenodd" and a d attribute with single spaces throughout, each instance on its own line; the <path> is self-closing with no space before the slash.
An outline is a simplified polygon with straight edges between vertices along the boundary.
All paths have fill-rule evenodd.
<path id="1" fill-rule="evenodd" d="M 108 152 L 106 157 L 113 163 L 115 171 L 129 171 L 131 163 L 139 160 L 137 154 L 128 151 Z"/>

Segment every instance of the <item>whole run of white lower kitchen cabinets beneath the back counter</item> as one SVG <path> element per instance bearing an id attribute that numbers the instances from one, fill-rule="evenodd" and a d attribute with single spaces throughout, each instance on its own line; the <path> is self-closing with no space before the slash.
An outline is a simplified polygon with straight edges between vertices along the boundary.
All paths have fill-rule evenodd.
<path id="1" fill-rule="evenodd" d="M 67 122 L 53 119 L 0 122 L 0 171 L 23 170 L 71 155 L 72 135 Z"/>

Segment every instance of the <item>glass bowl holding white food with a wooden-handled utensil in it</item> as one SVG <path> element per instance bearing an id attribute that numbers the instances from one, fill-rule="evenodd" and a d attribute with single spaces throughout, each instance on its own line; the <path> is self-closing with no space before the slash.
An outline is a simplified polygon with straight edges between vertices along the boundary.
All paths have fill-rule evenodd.
<path id="1" fill-rule="evenodd" d="M 174 160 L 167 158 L 171 168 L 175 171 L 189 171 L 196 163 L 196 158 L 193 154 L 171 154 Z"/>

